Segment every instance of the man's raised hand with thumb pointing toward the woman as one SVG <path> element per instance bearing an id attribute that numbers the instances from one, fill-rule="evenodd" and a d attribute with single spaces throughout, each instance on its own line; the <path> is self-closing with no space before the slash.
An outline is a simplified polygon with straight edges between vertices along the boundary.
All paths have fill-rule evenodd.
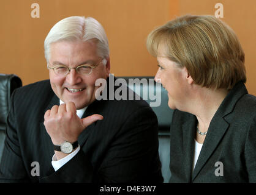
<path id="1" fill-rule="evenodd" d="M 77 110 L 73 102 L 67 104 L 54 105 L 51 110 L 45 112 L 45 121 L 43 122 L 51 141 L 55 145 L 61 145 L 64 141 L 73 143 L 83 130 L 92 122 L 102 120 L 102 115 L 91 115 L 80 119 L 77 116 Z"/>

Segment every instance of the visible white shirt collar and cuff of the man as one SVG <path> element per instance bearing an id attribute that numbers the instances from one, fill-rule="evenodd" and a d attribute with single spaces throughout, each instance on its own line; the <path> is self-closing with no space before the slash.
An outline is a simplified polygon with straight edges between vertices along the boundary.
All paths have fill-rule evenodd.
<path id="1" fill-rule="evenodd" d="M 62 102 L 61 99 L 59 99 L 59 105 L 61 105 L 61 104 L 65 104 L 65 103 Z M 81 118 L 83 116 L 83 113 L 85 113 L 86 108 L 87 107 L 77 110 L 77 116 L 79 118 Z M 57 160 L 55 157 L 55 154 L 54 154 L 53 157 L 51 158 L 51 165 L 53 166 L 55 171 L 57 171 L 59 168 L 61 168 L 63 165 L 65 165 L 69 160 L 71 160 L 78 153 L 78 151 L 80 151 L 79 145 L 78 145 L 77 149 L 75 149 L 75 151 L 73 151 L 72 153 L 70 153 L 69 155 L 67 155 L 64 158 L 61 158 L 60 160 Z"/>

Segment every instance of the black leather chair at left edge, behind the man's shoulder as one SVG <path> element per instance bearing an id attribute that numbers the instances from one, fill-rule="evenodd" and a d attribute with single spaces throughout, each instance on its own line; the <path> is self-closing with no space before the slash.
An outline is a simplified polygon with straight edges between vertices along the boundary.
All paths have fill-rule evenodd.
<path id="1" fill-rule="evenodd" d="M 10 96 L 15 88 L 21 86 L 21 79 L 15 74 L 0 74 L 0 161 L 6 138 L 6 119 L 10 106 Z"/>

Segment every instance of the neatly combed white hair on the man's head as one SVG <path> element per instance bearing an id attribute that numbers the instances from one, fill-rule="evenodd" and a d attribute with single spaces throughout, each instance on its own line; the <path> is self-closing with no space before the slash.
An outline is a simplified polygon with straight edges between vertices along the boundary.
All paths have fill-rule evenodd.
<path id="1" fill-rule="evenodd" d="M 96 40 L 99 57 L 109 56 L 108 38 L 102 25 L 94 18 L 70 16 L 56 23 L 45 38 L 45 59 L 50 59 L 51 43 L 57 41 L 89 41 Z"/>

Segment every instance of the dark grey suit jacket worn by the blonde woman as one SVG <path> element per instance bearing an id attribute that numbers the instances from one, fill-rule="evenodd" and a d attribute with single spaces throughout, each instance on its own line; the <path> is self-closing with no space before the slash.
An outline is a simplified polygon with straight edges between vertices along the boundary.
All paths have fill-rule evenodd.
<path id="1" fill-rule="evenodd" d="M 192 171 L 196 127 L 194 115 L 175 110 L 171 182 L 256 182 L 256 97 L 247 94 L 242 82 L 230 90 L 211 120 Z"/>

